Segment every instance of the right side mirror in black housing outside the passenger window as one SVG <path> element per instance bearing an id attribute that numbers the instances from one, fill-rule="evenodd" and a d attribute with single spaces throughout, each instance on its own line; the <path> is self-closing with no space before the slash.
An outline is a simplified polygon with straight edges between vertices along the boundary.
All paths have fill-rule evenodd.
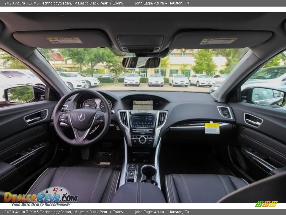
<path id="1" fill-rule="evenodd" d="M 282 107 L 285 105 L 285 93 L 266 87 L 248 87 L 242 92 L 242 101 L 262 106 Z"/>

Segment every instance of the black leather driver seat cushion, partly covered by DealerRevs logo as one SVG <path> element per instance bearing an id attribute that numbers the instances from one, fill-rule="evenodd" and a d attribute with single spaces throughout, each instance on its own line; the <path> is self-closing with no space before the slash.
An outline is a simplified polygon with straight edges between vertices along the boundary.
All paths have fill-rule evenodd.
<path id="1" fill-rule="evenodd" d="M 119 174 L 119 171 L 97 167 L 47 168 L 27 194 L 63 187 L 70 195 L 78 196 L 77 203 L 109 203 L 116 191 Z"/>

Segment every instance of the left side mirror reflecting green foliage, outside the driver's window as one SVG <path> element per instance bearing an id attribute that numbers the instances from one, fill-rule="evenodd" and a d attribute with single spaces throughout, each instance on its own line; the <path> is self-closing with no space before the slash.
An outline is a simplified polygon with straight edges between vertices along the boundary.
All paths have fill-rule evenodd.
<path id="1" fill-rule="evenodd" d="M 9 103 L 28 103 L 35 99 L 33 86 L 17 86 L 4 90 L 6 102 Z"/>

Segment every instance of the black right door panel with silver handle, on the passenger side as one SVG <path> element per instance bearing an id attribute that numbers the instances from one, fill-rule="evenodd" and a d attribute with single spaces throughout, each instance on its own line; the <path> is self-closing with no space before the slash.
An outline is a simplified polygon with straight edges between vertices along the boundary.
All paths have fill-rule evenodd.
<path id="1" fill-rule="evenodd" d="M 250 181 L 285 167 L 286 111 L 244 102 L 229 105 L 239 127 L 236 143 L 229 146 L 234 166 L 246 173 Z"/>

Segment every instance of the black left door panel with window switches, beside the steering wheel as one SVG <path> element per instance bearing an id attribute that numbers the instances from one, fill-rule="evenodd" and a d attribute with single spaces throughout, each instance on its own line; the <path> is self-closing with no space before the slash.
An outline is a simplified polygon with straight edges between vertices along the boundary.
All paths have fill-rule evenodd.
<path id="1" fill-rule="evenodd" d="M 41 101 L 0 108 L 1 191 L 24 193 L 52 160 L 56 145 L 49 142 L 48 125 L 55 104 Z M 47 110 L 47 114 L 35 114 L 42 117 L 39 121 L 28 124 L 24 119 L 41 110 Z"/>

